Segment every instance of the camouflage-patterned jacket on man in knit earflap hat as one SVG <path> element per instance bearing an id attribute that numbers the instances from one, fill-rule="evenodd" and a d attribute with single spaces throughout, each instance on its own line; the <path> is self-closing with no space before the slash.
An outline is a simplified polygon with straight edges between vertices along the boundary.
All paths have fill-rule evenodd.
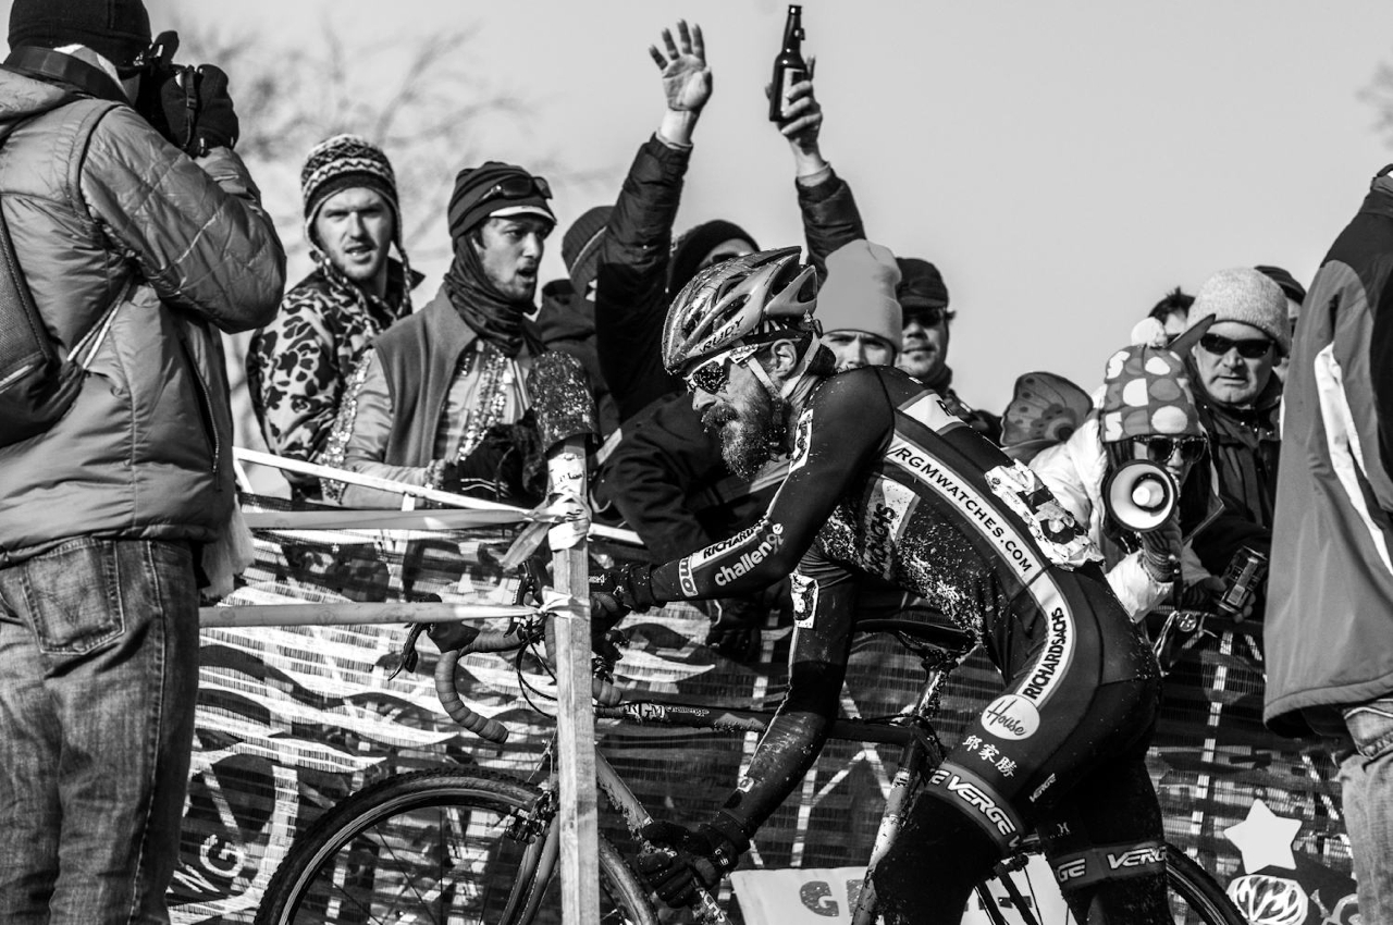
<path id="1" fill-rule="evenodd" d="M 387 298 L 379 300 L 327 259 L 286 294 L 280 312 L 252 337 L 247 387 L 252 411 L 272 453 L 313 461 L 338 412 L 348 375 L 378 334 L 411 313 L 411 288 L 421 274 L 391 259 Z M 287 472 L 301 492 L 318 495 L 318 481 Z"/>

